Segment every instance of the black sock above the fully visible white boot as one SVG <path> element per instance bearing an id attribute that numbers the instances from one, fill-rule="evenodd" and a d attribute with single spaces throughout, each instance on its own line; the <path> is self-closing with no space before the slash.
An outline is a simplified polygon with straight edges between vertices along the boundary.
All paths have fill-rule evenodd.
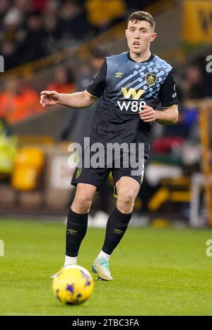
<path id="1" fill-rule="evenodd" d="M 124 236 L 130 219 L 131 213 L 124 214 L 120 212 L 117 207 L 114 208 L 107 220 L 105 241 L 102 246 L 102 251 L 104 251 L 105 254 L 112 254 L 112 251 L 117 247 L 119 241 L 121 241 Z"/>

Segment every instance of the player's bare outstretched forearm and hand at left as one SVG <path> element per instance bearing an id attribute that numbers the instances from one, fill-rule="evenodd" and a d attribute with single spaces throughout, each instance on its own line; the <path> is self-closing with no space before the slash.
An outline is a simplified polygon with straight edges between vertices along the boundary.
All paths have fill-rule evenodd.
<path id="1" fill-rule="evenodd" d="M 87 108 L 96 101 L 87 91 L 71 94 L 57 93 L 57 91 L 42 91 L 40 93 L 40 104 L 45 106 L 69 106 L 70 108 Z"/>

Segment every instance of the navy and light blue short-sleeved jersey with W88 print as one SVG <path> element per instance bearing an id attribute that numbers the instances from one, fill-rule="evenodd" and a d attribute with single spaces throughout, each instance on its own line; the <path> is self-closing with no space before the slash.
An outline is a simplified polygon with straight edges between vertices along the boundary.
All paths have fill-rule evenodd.
<path id="1" fill-rule="evenodd" d="M 143 106 L 177 104 L 172 67 L 156 55 L 135 62 L 129 52 L 105 58 L 88 93 L 100 98 L 91 126 L 91 142 L 149 142 L 151 123 L 139 117 Z"/>

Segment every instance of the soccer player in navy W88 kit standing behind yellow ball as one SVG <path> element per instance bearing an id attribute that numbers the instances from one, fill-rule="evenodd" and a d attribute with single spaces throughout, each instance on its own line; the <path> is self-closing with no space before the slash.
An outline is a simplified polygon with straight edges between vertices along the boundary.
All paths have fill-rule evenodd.
<path id="1" fill-rule="evenodd" d="M 155 40 L 155 21 L 150 13 L 136 11 L 129 16 L 125 30 L 129 51 L 105 57 L 88 89 L 79 93 L 42 91 L 43 107 L 61 104 L 71 108 L 86 108 L 98 98 L 90 143 L 101 142 L 105 149 L 110 143 L 144 146 L 144 163 L 148 159 L 151 123 L 175 124 L 178 118 L 177 94 L 172 67 L 154 55 L 151 42 Z M 162 110 L 155 110 L 161 104 Z M 66 229 L 66 258 L 64 265 L 76 264 L 81 241 L 86 235 L 88 212 L 95 192 L 112 172 L 117 191 L 117 204 L 106 227 L 105 241 L 93 263 L 93 273 L 102 280 L 112 280 L 109 258 L 124 236 L 139 193 L 143 171 L 136 175 L 132 168 L 102 166 L 77 168 L 71 183 L 76 195 L 69 210 Z"/>

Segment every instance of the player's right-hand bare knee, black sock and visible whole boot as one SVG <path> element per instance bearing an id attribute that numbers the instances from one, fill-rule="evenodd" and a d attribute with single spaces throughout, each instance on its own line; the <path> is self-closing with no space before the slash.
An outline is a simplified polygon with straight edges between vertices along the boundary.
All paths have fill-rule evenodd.
<path id="1" fill-rule="evenodd" d="M 117 181 L 116 188 L 118 195 L 117 207 L 114 208 L 107 221 L 102 251 L 93 263 L 93 272 L 98 273 L 99 278 L 103 280 L 112 280 L 108 261 L 112 251 L 117 247 L 126 232 L 140 184 L 134 178 L 122 176 Z"/>

